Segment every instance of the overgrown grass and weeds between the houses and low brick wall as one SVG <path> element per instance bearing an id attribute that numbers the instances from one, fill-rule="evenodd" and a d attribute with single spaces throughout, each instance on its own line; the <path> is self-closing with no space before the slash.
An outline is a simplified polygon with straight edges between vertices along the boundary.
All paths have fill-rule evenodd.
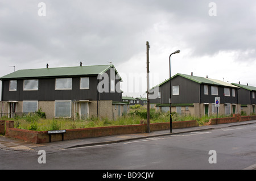
<path id="1" fill-rule="evenodd" d="M 199 125 L 208 123 L 210 118 L 216 116 L 179 116 L 177 113 L 172 112 L 172 121 L 189 121 L 196 120 Z M 225 116 L 218 116 L 225 117 Z M 7 120 L 7 118 L 6 118 Z M 10 119 L 8 119 L 10 120 Z M 77 128 L 94 128 L 94 127 L 108 127 L 115 125 L 133 125 L 144 124 L 147 122 L 147 110 L 145 108 L 136 108 L 130 110 L 130 113 L 123 115 L 116 120 L 108 118 L 98 119 L 97 117 L 90 117 L 88 120 L 72 120 L 72 119 L 43 119 L 39 114 L 28 114 L 22 117 L 16 117 L 13 119 L 15 122 L 19 122 L 16 125 L 17 128 L 27 129 L 33 131 L 52 131 L 60 129 L 77 129 Z M 154 109 L 150 110 L 150 123 L 166 123 L 170 121 L 169 112 L 158 112 Z"/>

